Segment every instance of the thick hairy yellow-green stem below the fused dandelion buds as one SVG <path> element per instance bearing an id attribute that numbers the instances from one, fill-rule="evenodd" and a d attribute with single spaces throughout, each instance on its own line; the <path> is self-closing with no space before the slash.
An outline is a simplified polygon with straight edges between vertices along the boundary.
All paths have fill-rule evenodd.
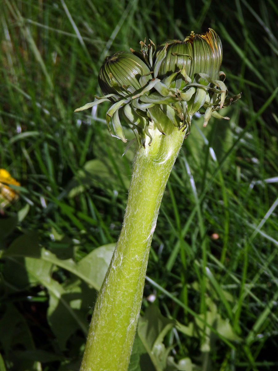
<path id="1" fill-rule="evenodd" d="M 119 240 L 97 298 L 80 371 L 125 371 L 141 308 L 150 243 L 163 192 L 185 133 L 150 130 L 139 148 Z"/>

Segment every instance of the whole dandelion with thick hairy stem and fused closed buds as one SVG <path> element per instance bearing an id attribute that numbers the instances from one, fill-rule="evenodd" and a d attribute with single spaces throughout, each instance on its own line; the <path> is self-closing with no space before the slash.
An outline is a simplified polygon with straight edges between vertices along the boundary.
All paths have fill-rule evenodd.
<path id="1" fill-rule="evenodd" d="M 214 30 L 157 48 L 151 40 L 140 45 L 140 52 L 106 57 L 99 72 L 105 95 L 76 109 L 112 102 L 106 112 L 110 134 L 126 142 L 126 124 L 137 142 L 123 226 L 96 301 L 82 371 L 127 370 L 160 203 L 192 116 L 204 114 L 204 126 L 211 116 L 228 119 L 218 111 L 240 98 L 226 98 Z"/>

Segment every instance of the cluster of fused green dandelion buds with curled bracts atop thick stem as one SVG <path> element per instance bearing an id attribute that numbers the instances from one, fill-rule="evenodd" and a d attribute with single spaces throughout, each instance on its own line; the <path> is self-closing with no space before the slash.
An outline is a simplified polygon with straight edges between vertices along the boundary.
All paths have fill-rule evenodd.
<path id="1" fill-rule="evenodd" d="M 111 135 L 126 142 L 119 110 L 138 144 L 145 147 L 152 142 L 149 125 L 162 134 L 167 125 L 190 132 L 191 117 L 195 112 L 204 114 L 206 126 L 211 116 L 229 119 L 217 111 L 230 105 L 241 94 L 227 98 L 225 74 L 219 72 L 222 62 L 222 44 L 212 29 L 202 35 L 194 34 L 183 41 L 163 42 L 155 50 L 150 40 L 140 42 L 141 53 L 118 52 L 106 57 L 100 68 L 99 85 L 105 94 L 97 101 L 77 108 L 82 111 L 104 101 L 112 101 L 106 113 Z"/>

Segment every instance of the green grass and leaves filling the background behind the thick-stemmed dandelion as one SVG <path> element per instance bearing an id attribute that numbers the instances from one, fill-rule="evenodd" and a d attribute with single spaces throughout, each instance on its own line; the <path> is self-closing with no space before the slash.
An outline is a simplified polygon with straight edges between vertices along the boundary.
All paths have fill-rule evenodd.
<path id="1" fill-rule="evenodd" d="M 133 148 L 122 157 L 107 106 L 73 113 L 102 95 L 103 59 L 145 37 L 208 27 L 222 40 L 230 95 L 242 98 L 226 109 L 229 122 L 193 119 L 160 207 L 141 325 L 154 293 L 178 321 L 161 335 L 175 364 L 277 370 L 277 15 L 272 0 L 1 2 L 0 167 L 23 187 L 0 216 L 1 371 L 78 370 L 81 361 L 101 283 L 85 263 L 107 266 L 132 172 Z M 99 246 L 105 263 L 90 255 Z"/>

